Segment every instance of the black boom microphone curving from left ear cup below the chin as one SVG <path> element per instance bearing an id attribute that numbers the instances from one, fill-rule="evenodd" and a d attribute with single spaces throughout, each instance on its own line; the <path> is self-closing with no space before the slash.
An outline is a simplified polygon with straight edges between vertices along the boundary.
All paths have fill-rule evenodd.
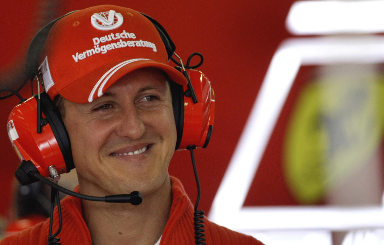
<path id="1" fill-rule="evenodd" d="M 22 161 L 20 166 L 15 172 L 17 180 L 22 184 L 31 184 L 38 180 L 43 181 L 45 184 L 50 185 L 52 188 L 59 190 L 67 195 L 73 197 L 78 197 L 84 200 L 96 201 L 96 202 L 118 202 L 124 203 L 129 202 L 132 205 L 139 205 L 142 202 L 142 195 L 138 191 L 132 191 L 130 194 L 120 194 L 120 195 L 108 195 L 105 197 L 95 197 L 90 195 L 84 195 L 71 190 L 65 189 L 64 187 L 53 183 L 52 181 L 46 179 L 43 175 L 39 173 L 35 165 L 31 161 Z"/>

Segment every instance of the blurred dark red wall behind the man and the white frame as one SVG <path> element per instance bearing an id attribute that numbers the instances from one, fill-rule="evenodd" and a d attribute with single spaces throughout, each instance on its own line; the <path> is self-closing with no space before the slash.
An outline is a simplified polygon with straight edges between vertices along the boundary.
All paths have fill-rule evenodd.
<path id="1" fill-rule="evenodd" d="M 207 149 L 197 149 L 195 158 L 202 185 L 200 209 L 209 211 L 248 118 L 258 89 L 273 53 L 283 39 L 290 36 L 285 18 L 293 0 L 243 1 L 126 1 L 124 5 L 146 13 L 161 23 L 172 37 L 184 62 L 195 51 L 204 55 L 203 71 L 215 90 L 214 131 Z M 0 38 L 0 87 L 20 84 L 29 41 L 50 20 L 72 10 L 104 4 L 101 0 L 20 0 L 2 3 Z M 45 19 L 44 19 L 45 18 Z M 27 87 L 27 86 L 26 86 Z M 30 96 L 30 86 L 23 89 Z M 0 94 L 3 95 L 3 94 Z M 0 216 L 7 217 L 12 202 L 13 172 L 19 160 L 8 140 L 7 117 L 18 99 L 0 101 Z M 278 124 L 279 127 L 280 124 Z M 295 204 L 285 188 L 280 170 L 283 125 L 276 128 L 248 194 L 247 205 Z M 269 150 L 268 150 L 269 149 Z M 189 152 L 175 152 L 170 173 L 179 177 L 195 200 L 196 186 Z M 272 194 L 274 193 L 274 194 Z"/>

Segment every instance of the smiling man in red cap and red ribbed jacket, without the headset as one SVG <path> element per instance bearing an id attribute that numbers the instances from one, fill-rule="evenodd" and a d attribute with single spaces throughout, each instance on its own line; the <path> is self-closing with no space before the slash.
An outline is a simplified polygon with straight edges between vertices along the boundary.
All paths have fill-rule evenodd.
<path id="1" fill-rule="evenodd" d="M 104 196 L 139 190 L 140 205 L 61 201 L 61 244 L 194 244 L 192 204 L 168 174 L 177 130 L 172 83 L 186 85 L 167 64 L 151 21 L 129 8 L 102 5 L 71 13 L 50 29 L 40 56 L 45 91 L 71 141 L 76 191 Z M 53 230 L 57 230 L 55 210 Z M 262 244 L 205 219 L 207 244 Z M 43 244 L 49 220 L 1 244 Z"/>

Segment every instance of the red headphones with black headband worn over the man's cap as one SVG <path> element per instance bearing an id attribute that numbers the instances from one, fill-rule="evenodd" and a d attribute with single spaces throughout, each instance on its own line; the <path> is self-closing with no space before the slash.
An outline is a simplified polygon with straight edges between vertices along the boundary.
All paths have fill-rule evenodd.
<path id="1" fill-rule="evenodd" d="M 189 81 L 187 86 L 170 83 L 177 129 L 175 149 L 182 150 L 191 145 L 205 148 L 212 133 L 215 95 L 209 79 L 202 72 L 193 70 L 193 68 L 201 65 L 202 60 L 197 66 L 189 66 L 190 58 L 195 55 L 192 54 L 184 68 L 183 64 L 172 58 L 175 46 L 164 28 L 156 20 L 147 15 L 144 16 L 156 26 L 166 46 L 169 58 L 183 67 L 182 73 Z M 37 73 L 37 57 L 41 46 L 51 26 L 60 18 L 48 23 L 31 41 L 27 53 L 26 68 L 27 76 L 31 80 L 35 78 Z M 200 54 L 198 55 L 202 58 Z M 179 70 L 181 71 L 181 68 Z M 31 161 L 44 177 L 50 177 L 48 171 L 50 166 L 55 166 L 59 174 L 70 172 L 74 168 L 71 144 L 60 113 L 48 94 L 43 92 L 40 94 L 40 99 L 38 97 L 38 95 L 34 95 L 22 101 L 13 108 L 8 117 L 7 130 L 13 149 L 21 160 Z M 41 108 L 41 112 L 38 108 Z M 38 127 L 41 127 L 41 132 L 36 130 Z M 25 173 L 18 171 L 15 175 L 22 184 L 34 182 L 26 179 Z"/>

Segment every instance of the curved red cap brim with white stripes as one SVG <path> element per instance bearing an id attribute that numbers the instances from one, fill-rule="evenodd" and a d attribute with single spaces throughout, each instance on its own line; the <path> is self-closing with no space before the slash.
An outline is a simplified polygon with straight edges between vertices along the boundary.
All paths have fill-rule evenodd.
<path id="1" fill-rule="evenodd" d="M 188 83 L 182 73 L 163 63 L 148 59 L 116 60 L 89 71 L 58 93 L 74 103 L 89 103 L 102 96 L 122 76 L 144 67 L 159 68 L 177 84 L 185 86 Z"/>

